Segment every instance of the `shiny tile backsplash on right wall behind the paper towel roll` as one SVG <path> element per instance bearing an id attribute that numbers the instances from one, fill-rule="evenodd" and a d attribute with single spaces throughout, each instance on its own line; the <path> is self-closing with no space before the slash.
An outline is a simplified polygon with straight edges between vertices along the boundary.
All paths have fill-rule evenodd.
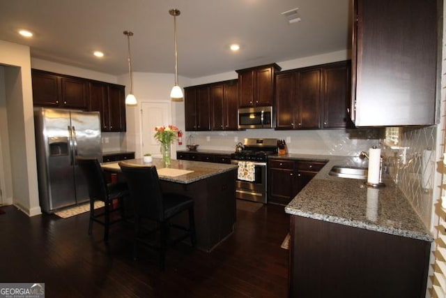
<path id="1" fill-rule="evenodd" d="M 436 126 L 400 128 L 397 146 L 383 150 L 388 171 L 426 227 L 431 220 L 436 130 Z"/>

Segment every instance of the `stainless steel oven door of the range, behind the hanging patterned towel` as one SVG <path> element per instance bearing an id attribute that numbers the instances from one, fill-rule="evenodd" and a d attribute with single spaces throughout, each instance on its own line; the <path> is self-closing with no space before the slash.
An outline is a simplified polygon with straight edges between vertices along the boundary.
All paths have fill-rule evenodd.
<path id="1" fill-rule="evenodd" d="M 233 165 L 239 161 L 231 160 Z M 254 181 L 236 180 L 236 198 L 266 204 L 266 163 L 254 163 Z"/>

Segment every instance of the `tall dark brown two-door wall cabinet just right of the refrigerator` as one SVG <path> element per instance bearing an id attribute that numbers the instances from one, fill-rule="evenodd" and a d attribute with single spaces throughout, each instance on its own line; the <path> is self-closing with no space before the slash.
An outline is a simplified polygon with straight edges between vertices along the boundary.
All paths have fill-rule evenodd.
<path id="1" fill-rule="evenodd" d="M 90 110 L 100 112 L 102 131 L 125 131 L 125 87 L 89 82 Z"/>

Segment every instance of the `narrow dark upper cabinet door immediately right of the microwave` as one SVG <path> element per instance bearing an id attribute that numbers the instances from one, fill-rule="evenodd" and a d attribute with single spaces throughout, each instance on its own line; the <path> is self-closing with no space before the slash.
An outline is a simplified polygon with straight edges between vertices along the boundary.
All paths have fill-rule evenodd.
<path id="1" fill-rule="evenodd" d="M 295 73 L 281 73 L 275 80 L 275 113 L 277 129 L 294 128 Z"/>

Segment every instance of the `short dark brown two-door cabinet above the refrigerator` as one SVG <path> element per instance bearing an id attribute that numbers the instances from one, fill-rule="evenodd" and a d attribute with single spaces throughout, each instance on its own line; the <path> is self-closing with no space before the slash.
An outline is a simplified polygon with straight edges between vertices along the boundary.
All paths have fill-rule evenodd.
<path id="1" fill-rule="evenodd" d="M 33 105 L 86 110 L 89 107 L 85 80 L 43 70 L 31 70 Z"/>

